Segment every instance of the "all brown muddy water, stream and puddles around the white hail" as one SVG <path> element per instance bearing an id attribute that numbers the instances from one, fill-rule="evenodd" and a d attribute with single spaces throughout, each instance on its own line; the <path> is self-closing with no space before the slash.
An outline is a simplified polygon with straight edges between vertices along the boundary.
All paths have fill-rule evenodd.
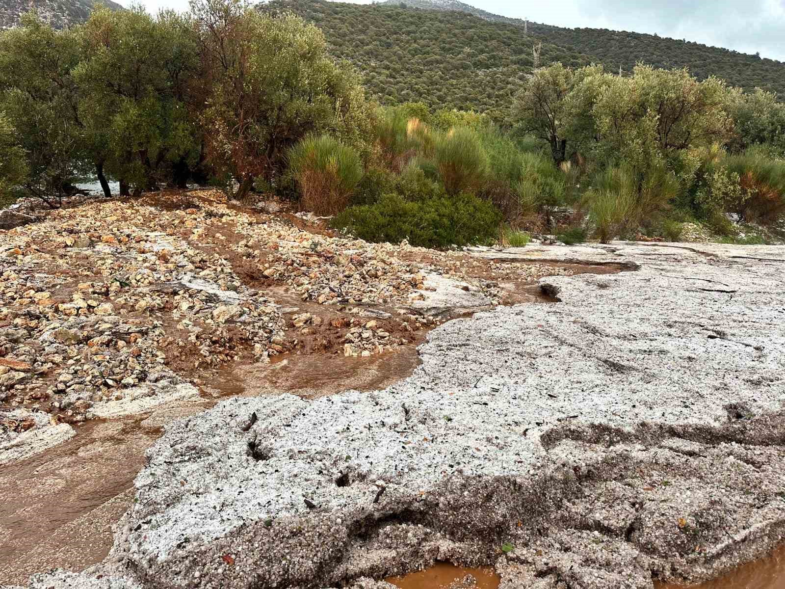
<path id="1" fill-rule="evenodd" d="M 586 266 L 574 271 L 619 269 Z M 504 286 L 509 293 L 506 304 L 557 300 L 531 283 Z M 433 327 L 436 324 L 429 326 Z M 198 400 L 163 406 L 143 416 L 75 424 L 71 440 L 0 467 L 0 585 L 24 585 L 31 573 L 54 568 L 77 571 L 100 562 L 111 547 L 112 526 L 133 501 L 133 479 L 144 466 L 144 454 L 171 419 L 201 412 L 221 397 L 235 395 L 294 393 L 313 398 L 342 390 L 384 389 L 417 367 L 417 346 L 429 328 L 410 345 L 371 357 L 284 353 L 267 364 L 239 362 L 205 371 L 195 379 L 202 391 Z M 469 569 L 449 563 L 388 580 L 400 589 L 497 589 L 500 583 L 492 567 Z M 677 589 L 665 584 L 655 587 Z M 785 589 L 785 547 L 721 580 L 696 587 Z"/>

